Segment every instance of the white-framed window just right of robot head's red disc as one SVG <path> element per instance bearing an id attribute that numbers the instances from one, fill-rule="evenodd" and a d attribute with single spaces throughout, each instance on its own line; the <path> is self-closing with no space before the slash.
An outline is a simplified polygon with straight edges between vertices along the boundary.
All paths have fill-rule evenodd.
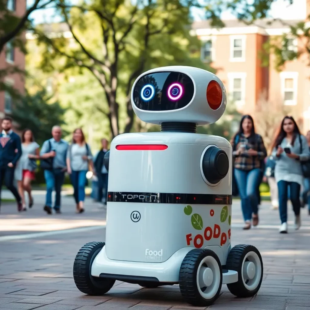
<path id="1" fill-rule="evenodd" d="M 245 104 L 246 73 L 228 73 L 230 100 L 237 106 Z"/>

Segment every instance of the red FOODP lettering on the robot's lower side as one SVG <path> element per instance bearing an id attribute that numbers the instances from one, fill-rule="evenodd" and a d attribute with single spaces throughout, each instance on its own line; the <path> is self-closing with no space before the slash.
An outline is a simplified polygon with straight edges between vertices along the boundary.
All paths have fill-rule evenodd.
<path id="1" fill-rule="evenodd" d="M 223 246 L 226 241 L 227 241 L 227 236 L 228 239 L 230 239 L 230 229 L 228 229 L 228 232 L 222 232 L 221 233 L 221 228 L 219 227 L 218 224 L 214 225 L 214 228 L 212 229 L 210 226 L 206 227 L 203 235 L 202 234 L 197 234 L 194 238 L 192 237 L 192 234 L 189 233 L 186 235 L 186 243 L 188 246 L 191 245 L 191 242 L 193 241 L 193 245 L 195 248 L 201 248 L 203 246 L 204 240 L 210 241 L 212 238 L 220 238 L 220 245 Z"/>

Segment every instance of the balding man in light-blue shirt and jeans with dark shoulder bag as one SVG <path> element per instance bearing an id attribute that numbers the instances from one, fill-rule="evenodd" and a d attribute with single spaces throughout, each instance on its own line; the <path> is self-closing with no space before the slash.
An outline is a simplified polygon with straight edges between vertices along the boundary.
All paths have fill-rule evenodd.
<path id="1" fill-rule="evenodd" d="M 67 171 L 67 150 L 68 143 L 61 139 L 62 130 L 60 126 L 52 128 L 52 138 L 46 140 L 40 152 L 41 168 L 44 169 L 44 178 L 46 181 L 46 202 L 43 210 L 47 214 L 52 214 L 52 192 L 55 188 L 56 213 L 60 211 L 60 193 L 64 183 L 64 174 Z"/>

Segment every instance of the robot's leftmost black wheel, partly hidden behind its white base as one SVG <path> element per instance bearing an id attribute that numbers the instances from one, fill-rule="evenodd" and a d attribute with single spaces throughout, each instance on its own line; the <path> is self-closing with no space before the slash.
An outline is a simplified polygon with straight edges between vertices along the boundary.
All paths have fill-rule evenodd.
<path id="1" fill-rule="evenodd" d="M 103 295 L 114 285 L 115 280 L 92 277 L 91 265 L 96 255 L 103 248 L 104 242 L 86 243 L 78 251 L 73 264 L 73 278 L 77 288 L 88 295 Z"/>

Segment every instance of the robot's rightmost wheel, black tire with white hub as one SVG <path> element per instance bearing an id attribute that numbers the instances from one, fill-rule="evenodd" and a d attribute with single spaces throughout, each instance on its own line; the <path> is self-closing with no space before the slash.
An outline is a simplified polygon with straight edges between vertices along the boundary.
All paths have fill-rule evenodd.
<path id="1" fill-rule="evenodd" d="M 258 292 L 263 280 L 263 260 L 255 246 L 234 246 L 227 256 L 226 269 L 238 272 L 238 281 L 227 284 L 232 294 L 251 297 Z"/>

